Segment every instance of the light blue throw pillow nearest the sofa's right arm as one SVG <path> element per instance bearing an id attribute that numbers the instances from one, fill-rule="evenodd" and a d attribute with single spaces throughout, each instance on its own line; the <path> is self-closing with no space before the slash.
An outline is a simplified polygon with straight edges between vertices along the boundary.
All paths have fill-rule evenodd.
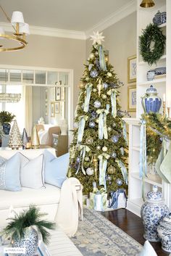
<path id="1" fill-rule="evenodd" d="M 44 151 L 44 180 L 54 186 L 62 187 L 67 178 L 67 170 L 70 161 L 70 154 L 63 154 L 61 157 L 54 157 L 48 150 Z"/>

